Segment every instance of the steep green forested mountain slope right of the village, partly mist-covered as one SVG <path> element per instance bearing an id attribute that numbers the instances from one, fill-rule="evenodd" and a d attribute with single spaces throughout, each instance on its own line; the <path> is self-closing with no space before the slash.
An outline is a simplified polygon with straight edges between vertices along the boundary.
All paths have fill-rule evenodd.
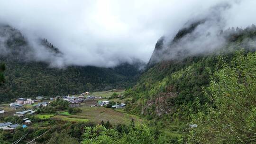
<path id="1" fill-rule="evenodd" d="M 198 104 L 212 102 L 203 88 L 209 87 L 220 60 L 231 64 L 238 51 L 255 52 L 256 27 L 252 25 L 245 29 L 220 30 L 217 36 L 223 38 L 223 45 L 191 54 L 196 48 L 183 49 L 183 39 L 193 44 L 197 38 L 193 33 L 202 23 L 192 23 L 181 29 L 173 39 L 161 37 L 158 40 L 146 71 L 133 88 L 126 90 L 125 96 L 132 98 L 127 112 L 147 119 L 190 120 L 191 114 L 200 110 Z"/>

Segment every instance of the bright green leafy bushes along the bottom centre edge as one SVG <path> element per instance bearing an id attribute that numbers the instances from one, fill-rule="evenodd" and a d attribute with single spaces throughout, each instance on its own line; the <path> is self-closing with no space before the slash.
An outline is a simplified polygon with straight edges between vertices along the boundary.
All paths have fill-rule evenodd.
<path id="1" fill-rule="evenodd" d="M 119 125 L 107 129 L 105 126 L 86 126 L 82 144 L 169 144 L 156 129 L 145 125 Z"/>

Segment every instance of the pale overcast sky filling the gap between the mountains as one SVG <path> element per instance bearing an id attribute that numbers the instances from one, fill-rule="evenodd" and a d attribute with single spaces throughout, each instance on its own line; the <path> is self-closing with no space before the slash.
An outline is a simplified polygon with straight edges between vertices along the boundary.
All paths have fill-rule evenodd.
<path id="1" fill-rule="evenodd" d="M 30 41 L 46 38 L 66 65 L 111 67 L 148 62 L 159 37 L 223 2 L 231 6 L 222 13 L 224 28 L 256 23 L 256 0 L 0 0 L 0 22 Z"/>

